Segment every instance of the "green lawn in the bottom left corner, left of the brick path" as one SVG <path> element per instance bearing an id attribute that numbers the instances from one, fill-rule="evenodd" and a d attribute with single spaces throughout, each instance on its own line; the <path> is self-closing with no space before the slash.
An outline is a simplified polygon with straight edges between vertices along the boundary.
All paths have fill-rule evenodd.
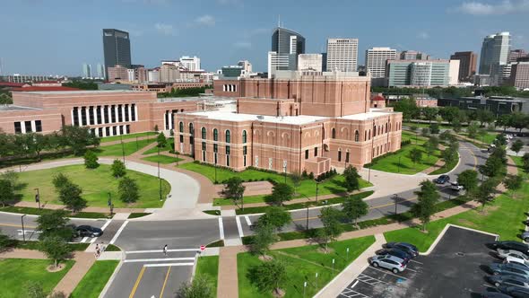
<path id="1" fill-rule="evenodd" d="M 66 261 L 66 267 L 59 272 L 48 272 L 48 259 L 0 259 L 0 284 L 2 298 L 24 297 L 28 282 L 39 282 L 46 293 L 50 293 L 74 265 Z"/>

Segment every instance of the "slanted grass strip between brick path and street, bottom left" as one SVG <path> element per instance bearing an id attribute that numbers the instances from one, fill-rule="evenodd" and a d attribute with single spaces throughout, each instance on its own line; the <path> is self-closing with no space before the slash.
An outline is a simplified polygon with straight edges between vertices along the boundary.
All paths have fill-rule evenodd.
<path id="1" fill-rule="evenodd" d="M 107 285 L 108 279 L 116 270 L 117 260 L 100 260 L 95 262 L 82 277 L 70 298 L 98 298 Z"/>

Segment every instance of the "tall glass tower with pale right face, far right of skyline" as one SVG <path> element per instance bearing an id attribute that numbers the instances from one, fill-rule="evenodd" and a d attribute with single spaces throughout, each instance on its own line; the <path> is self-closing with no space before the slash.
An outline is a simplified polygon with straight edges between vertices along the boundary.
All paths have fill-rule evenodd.
<path id="1" fill-rule="evenodd" d="M 493 64 L 507 64 L 510 50 L 509 32 L 491 34 L 483 39 L 481 46 L 480 74 L 490 74 Z"/>

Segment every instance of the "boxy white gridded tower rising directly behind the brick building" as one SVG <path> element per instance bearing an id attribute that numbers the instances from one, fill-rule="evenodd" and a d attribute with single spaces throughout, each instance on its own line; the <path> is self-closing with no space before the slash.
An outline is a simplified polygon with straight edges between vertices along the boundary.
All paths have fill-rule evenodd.
<path id="1" fill-rule="evenodd" d="M 327 70 L 356 72 L 357 66 L 358 39 L 327 39 Z"/>

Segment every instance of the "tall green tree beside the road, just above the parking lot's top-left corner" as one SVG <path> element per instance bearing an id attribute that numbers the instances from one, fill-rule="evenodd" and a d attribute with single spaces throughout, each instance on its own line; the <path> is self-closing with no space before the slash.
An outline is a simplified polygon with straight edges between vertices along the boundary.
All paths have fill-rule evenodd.
<path id="1" fill-rule="evenodd" d="M 424 180 L 421 182 L 421 189 L 415 191 L 415 195 L 417 195 L 417 204 L 412 206 L 412 213 L 421 220 L 422 231 L 426 231 L 426 224 L 434 214 L 435 205 L 440 197 L 438 188 L 432 181 Z"/>

